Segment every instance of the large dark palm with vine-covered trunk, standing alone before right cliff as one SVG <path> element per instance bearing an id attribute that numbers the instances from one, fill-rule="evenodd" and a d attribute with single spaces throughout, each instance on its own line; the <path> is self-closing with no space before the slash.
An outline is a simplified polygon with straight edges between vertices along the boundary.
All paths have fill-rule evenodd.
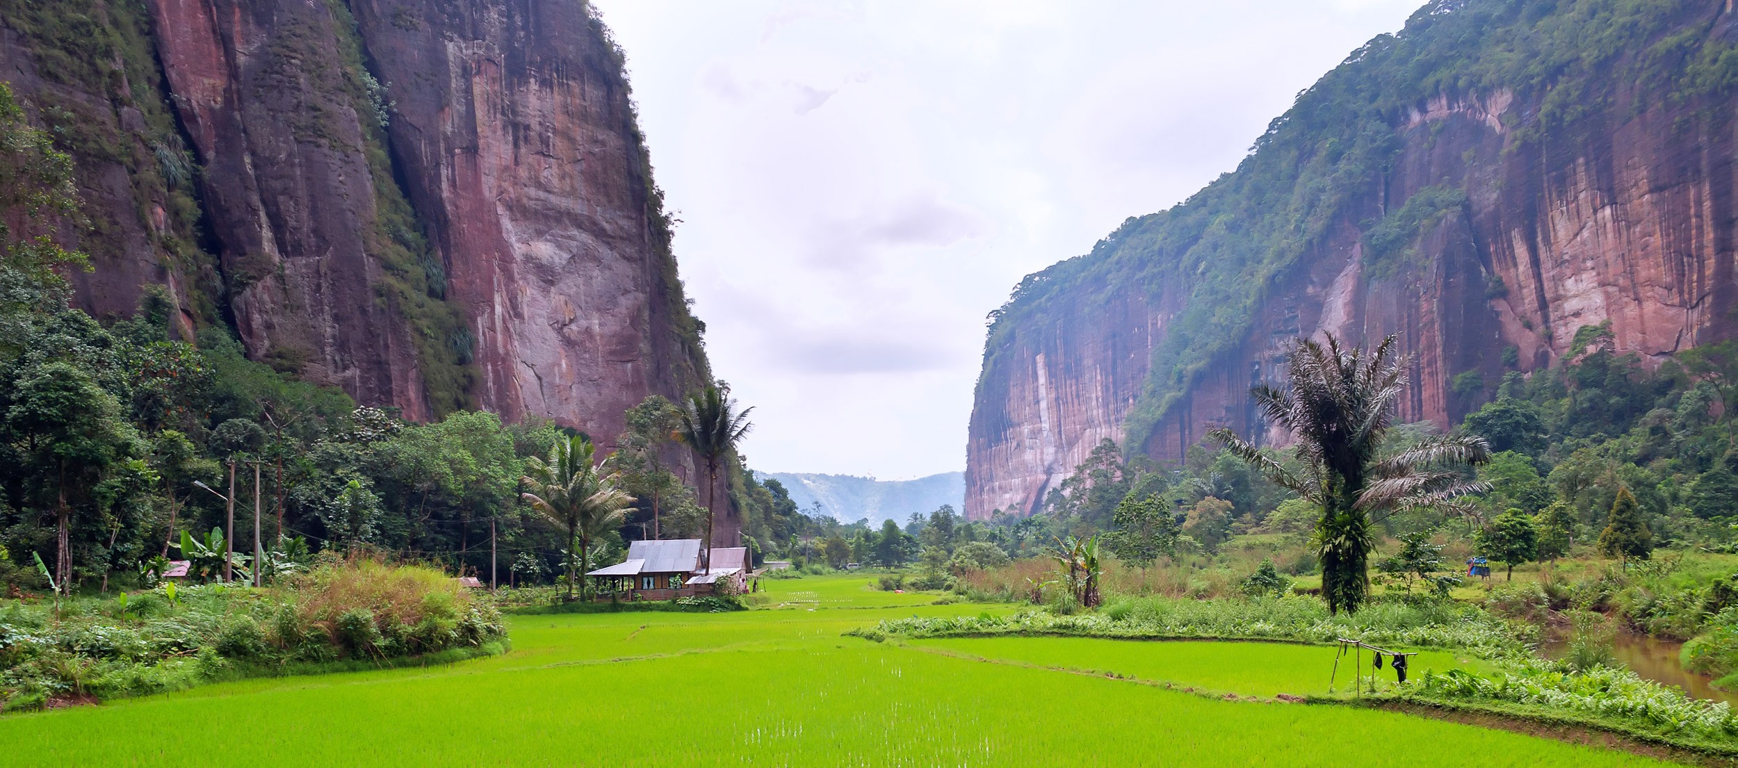
<path id="1" fill-rule="evenodd" d="M 1321 594 L 1330 612 L 1356 612 L 1370 596 L 1371 513 L 1449 507 L 1474 514 L 1456 497 L 1483 490 L 1467 471 L 1491 457 L 1479 436 L 1443 434 L 1382 455 L 1396 400 L 1406 391 L 1406 360 L 1394 337 L 1376 349 L 1343 349 L 1298 339 L 1286 363 L 1290 386 L 1251 389 L 1269 420 L 1291 431 L 1302 473 L 1293 473 L 1231 429 L 1211 438 L 1304 499 L 1321 507 L 1314 544 L 1321 558 Z"/>

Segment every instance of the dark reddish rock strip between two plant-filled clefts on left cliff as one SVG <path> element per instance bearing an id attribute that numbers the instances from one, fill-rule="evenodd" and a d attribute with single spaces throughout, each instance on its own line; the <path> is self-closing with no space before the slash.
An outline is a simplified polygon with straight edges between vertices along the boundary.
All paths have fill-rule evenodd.
<path id="1" fill-rule="evenodd" d="M 327 3 L 149 7 L 249 354 L 431 417 L 414 341 L 375 290 L 375 189 Z"/>

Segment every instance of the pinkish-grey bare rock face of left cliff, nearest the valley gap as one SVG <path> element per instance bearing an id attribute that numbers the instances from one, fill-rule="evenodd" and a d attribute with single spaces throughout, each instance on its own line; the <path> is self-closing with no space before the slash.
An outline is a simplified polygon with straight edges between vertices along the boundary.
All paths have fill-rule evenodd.
<path id="1" fill-rule="evenodd" d="M 410 200 L 468 308 L 478 398 L 600 436 L 699 351 L 620 54 L 579 0 L 358 0 Z"/>

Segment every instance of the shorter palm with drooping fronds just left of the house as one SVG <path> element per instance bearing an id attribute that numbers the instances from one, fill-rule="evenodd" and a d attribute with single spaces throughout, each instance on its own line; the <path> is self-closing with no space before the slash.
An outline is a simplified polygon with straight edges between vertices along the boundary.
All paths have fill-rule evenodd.
<path id="1" fill-rule="evenodd" d="M 520 478 L 527 492 L 520 493 L 544 518 L 567 528 L 567 599 L 574 599 L 574 544 L 579 544 L 579 573 L 591 570 L 591 540 L 620 525 L 634 497 L 620 492 L 617 474 L 603 474 L 593 464 L 596 448 L 575 434 L 556 440 L 549 460 L 530 457 L 527 474 Z M 580 596 L 584 596 L 584 587 Z"/>

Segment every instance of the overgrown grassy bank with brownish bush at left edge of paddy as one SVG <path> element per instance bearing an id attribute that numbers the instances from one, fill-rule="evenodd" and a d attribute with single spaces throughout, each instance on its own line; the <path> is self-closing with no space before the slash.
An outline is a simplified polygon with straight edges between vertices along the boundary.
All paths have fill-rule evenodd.
<path id="1" fill-rule="evenodd" d="M 504 648 L 501 613 L 431 568 L 334 563 L 290 582 L 162 586 L 0 608 L 0 711 L 214 679 L 452 660 Z"/>

